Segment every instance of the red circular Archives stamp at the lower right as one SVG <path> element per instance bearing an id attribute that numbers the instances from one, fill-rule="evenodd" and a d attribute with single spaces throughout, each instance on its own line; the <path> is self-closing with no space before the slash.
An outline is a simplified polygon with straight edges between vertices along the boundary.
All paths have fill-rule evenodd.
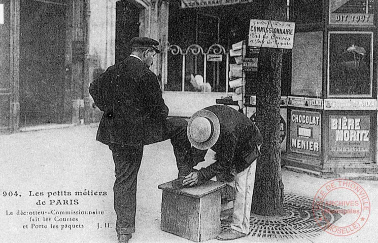
<path id="1" fill-rule="evenodd" d="M 336 236 L 356 233 L 370 215 L 369 197 L 358 183 L 335 179 L 317 191 L 313 201 L 313 216 L 326 232 Z"/>

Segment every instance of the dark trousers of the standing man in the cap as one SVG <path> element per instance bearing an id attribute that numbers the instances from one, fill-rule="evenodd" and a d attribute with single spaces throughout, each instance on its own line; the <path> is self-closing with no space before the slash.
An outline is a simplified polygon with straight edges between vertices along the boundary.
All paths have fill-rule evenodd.
<path id="1" fill-rule="evenodd" d="M 176 156 L 179 170 L 190 168 L 186 160 L 186 154 L 190 148 L 190 142 L 186 134 L 187 121 L 182 118 L 170 118 L 166 121 L 162 140 L 170 139 Z M 160 142 L 157 141 L 157 142 Z M 114 209 L 117 214 L 116 231 L 118 234 L 130 234 L 135 232 L 136 212 L 136 183 L 143 156 L 143 144 L 141 145 L 109 145 L 113 152 L 115 164 L 114 183 Z M 191 160 L 190 160 L 191 164 Z M 158 167 L 158 165 L 157 165 Z M 185 169 L 186 170 L 186 169 Z M 188 169 L 189 170 L 189 169 Z"/>

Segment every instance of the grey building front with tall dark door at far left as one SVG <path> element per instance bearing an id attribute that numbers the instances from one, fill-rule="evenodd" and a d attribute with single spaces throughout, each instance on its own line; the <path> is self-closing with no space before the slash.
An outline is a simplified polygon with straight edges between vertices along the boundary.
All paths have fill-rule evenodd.
<path id="1" fill-rule="evenodd" d="M 0 1 L 0 132 L 79 123 L 88 1 Z"/>

